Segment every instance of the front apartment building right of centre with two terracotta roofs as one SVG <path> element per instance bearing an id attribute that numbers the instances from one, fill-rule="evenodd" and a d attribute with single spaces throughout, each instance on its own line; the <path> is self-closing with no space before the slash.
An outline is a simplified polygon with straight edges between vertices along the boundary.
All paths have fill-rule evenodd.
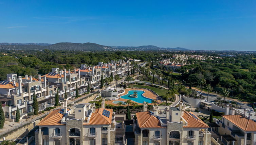
<path id="1" fill-rule="evenodd" d="M 209 126 L 192 112 L 181 109 L 156 106 L 154 111 L 136 113 L 134 122 L 135 145 L 209 145 L 211 133 Z"/>

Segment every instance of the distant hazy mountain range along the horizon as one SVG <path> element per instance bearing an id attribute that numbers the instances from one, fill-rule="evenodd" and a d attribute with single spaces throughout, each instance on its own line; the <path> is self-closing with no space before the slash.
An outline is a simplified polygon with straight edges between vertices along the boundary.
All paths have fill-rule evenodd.
<path id="1" fill-rule="evenodd" d="M 0 43 L 0 49 L 25 49 L 25 50 L 77 50 L 77 51 L 154 51 L 154 50 L 169 50 L 169 51 L 185 51 L 186 48 L 160 48 L 157 46 L 103 46 L 96 43 L 70 43 L 61 42 L 56 44 L 49 43 Z"/>

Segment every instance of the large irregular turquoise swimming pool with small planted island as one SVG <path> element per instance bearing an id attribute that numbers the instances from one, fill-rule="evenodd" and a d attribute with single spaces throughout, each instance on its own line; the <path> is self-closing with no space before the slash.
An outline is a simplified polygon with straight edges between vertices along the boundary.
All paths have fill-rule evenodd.
<path id="1" fill-rule="evenodd" d="M 137 96 L 138 97 L 130 96 L 130 95 L 134 94 L 135 91 L 137 92 Z M 128 100 L 131 99 L 131 100 L 133 100 L 134 102 L 137 102 L 137 103 L 143 103 L 144 101 L 148 102 L 148 103 L 151 103 L 151 101 L 153 99 L 144 97 L 143 93 L 145 93 L 145 91 L 142 91 L 142 90 L 130 90 L 130 91 L 128 91 L 128 93 L 126 95 L 120 96 L 120 98 L 128 99 Z"/>

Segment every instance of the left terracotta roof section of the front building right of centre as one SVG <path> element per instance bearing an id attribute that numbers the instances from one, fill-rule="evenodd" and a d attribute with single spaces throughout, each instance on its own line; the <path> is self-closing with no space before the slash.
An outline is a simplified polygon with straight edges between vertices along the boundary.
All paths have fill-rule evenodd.
<path id="1" fill-rule="evenodd" d="M 165 128 L 161 126 L 159 119 L 148 112 L 136 113 L 138 124 L 140 128 Z"/>

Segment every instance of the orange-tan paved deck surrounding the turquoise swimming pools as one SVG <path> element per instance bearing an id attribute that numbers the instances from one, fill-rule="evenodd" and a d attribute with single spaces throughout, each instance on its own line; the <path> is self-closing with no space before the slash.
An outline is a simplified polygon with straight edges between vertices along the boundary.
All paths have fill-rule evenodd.
<path id="1" fill-rule="evenodd" d="M 128 91 L 130 90 L 142 90 L 142 91 L 145 91 L 145 93 L 143 93 L 143 95 L 147 98 L 150 98 L 150 99 L 154 99 L 154 100 L 157 100 L 158 104 L 162 103 L 161 102 L 161 98 L 159 98 L 156 94 L 154 94 L 153 92 L 147 90 L 147 89 L 138 89 L 138 88 L 127 88 L 125 89 L 125 93 L 119 95 L 118 97 L 120 96 L 123 96 L 123 95 L 126 95 L 128 93 Z M 126 102 L 127 99 L 123 99 L 123 98 L 119 98 L 118 100 L 106 100 L 105 101 L 105 104 L 111 104 L 111 105 L 114 105 L 114 106 L 118 106 L 117 104 L 114 104 L 113 102 L 114 101 L 123 101 L 123 102 Z M 131 102 L 134 102 L 133 100 L 131 100 Z M 137 102 L 134 102 L 134 103 L 137 103 Z M 143 105 L 142 103 L 137 103 L 138 105 Z M 149 105 L 153 105 L 152 103 L 148 103 Z M 126 106 L 126 105 L 122 105 L 122 106 Z"/>

